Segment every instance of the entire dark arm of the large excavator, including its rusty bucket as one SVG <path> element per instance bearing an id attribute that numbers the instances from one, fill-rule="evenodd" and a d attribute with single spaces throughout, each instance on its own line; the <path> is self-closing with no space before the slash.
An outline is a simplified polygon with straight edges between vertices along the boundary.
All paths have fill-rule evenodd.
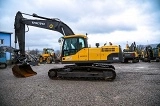
<path id="1" fill-rule="evenodd" d="M 36 17 L 39 19 L 27 19 L 24 18 L 22 14 Z M 25 25 L 57 31 L 64 36 L 74 35 L 71 28 L 69 28 L 69 26 L 67 26 L 59 19 L 46 18 L 38 16 L 36 14 L 30 15 L 18 11 L 15 16 L 14 29 L 15 43 L 17 43 L 18 40 L 19 50 L 14 51 L 16 54 L 14 60 L 16 60 L 16 62 L 12 68 L 12 72 L 16 77 L 29 77 L 37 74 L 30 67 L 29 63 L 27 62 L 27 56 L 25 55 Z"/>

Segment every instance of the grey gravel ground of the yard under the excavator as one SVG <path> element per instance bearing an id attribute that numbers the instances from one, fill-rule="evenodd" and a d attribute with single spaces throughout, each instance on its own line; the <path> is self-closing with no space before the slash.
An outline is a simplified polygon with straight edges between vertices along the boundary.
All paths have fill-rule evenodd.
<path id="1" fill-rule="evenodd" d="M 16 78 L 8 66 L 0 69 L 0 106 L 160 106 L 160 62 L 113 65 L 113 82 L 49 79 L 61 64 L 32 66 L 37 75 Z"/>

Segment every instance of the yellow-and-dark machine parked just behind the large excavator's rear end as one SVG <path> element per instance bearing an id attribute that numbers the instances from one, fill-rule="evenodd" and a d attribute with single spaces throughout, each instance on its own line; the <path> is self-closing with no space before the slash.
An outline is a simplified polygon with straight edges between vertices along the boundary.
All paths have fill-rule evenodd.
<path id="1" fill-rule="evenodd" d="M 128 63 L 129 61 L 132 61 L 132 63 L 139 62 L 140 55 L 138 54 L 136 43 L 133 42 L 131 46 L 126 44 L 126 48 L 123 49 L 123 59 L 124 63 Z"/>

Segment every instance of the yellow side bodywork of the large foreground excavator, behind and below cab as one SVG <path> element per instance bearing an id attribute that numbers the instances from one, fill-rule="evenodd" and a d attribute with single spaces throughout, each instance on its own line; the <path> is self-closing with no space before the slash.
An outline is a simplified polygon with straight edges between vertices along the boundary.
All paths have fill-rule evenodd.
<path id="1" fill-rule="evenodd" d="M 107 60 L 108 55 L 119 53 L 119 46 L 102 46 L 93 48 L 83 48 L 76 54 L 65 56 L 62 61 L 93 61 Z"/>

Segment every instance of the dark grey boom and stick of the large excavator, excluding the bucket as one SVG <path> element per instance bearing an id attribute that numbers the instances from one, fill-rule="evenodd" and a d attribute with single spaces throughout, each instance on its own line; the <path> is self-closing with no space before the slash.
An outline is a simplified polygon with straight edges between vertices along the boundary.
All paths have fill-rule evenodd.
<path id="1" fill-rule="evenodd" d="M 40 18 L 41 20 L 27 19 L 24 18 L 22 14 Z M 18 39 L 21 55 L 25 55 L 25 25 L 57 31 L 64 36 L 74 35 L 74 32 L 71 30 L 71 28 L 57 18 L 46 18 L 38 16 L 36 14 L 30 15 L 18 11 L 15 16 L 14 29 L 15 29 L 15 43 L 17 43 Z"/>

